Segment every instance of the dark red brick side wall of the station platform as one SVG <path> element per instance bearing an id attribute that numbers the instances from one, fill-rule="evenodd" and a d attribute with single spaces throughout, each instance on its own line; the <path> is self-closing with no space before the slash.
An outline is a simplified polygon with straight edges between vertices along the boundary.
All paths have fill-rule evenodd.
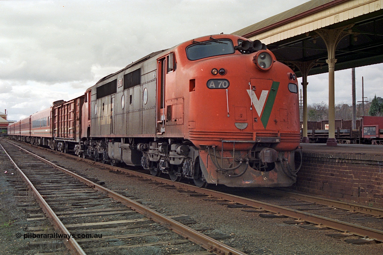
<path id="1" fill-rule="evenodd" d="M 383 206 L 383 156 L 303 152 L 293 188 Z"/>

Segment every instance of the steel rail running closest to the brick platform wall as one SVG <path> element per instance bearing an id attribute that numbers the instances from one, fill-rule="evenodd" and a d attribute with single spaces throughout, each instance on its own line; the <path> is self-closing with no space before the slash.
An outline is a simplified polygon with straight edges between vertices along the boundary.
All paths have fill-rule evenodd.
<path id="1" fill-rule="evenodd" d="M 315 196 L 303 195 L 303 194 L 290 192 L 290 191 L 283 191 L 283 190 L 265 189 L 265 191 L 262 191 L 262 192 L 267 194 L 279 195 L 279 196 L 288 196 L 290 198 L 300 199 L 302 201 L 306 201 L 310 203 L 316 203 L 316 204 L 321 204 L 325 206 L 333 206 L 335 208 L 349 210 L 352 212 L 360 212 L 360 213 L 369 214 L 372 216 L 383 216 L 383 209 L 373 208 L 370 206 L 346 203 L 346 202 L 331 200 L 327 198 L 317 198 Z"/>

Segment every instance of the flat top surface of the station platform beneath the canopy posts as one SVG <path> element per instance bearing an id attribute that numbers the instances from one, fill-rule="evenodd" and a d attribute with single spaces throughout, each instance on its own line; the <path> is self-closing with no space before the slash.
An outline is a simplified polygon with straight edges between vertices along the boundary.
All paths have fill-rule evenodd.
<path id="1" fill-rule="evenodd" d="M 381 155 L 383 156 L 382 145 L 371 144 L 338 144 L 327 146 L 326 144 L 301 143 L 303 152 L 320 152 L 329 154 L 355 154 L 355 155 Z"/>

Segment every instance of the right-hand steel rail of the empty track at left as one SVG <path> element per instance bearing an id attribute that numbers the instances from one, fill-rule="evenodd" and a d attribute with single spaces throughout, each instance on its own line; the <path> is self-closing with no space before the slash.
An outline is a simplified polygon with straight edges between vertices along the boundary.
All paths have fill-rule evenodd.
<path id="1" fill-rule="evenodd" d="M 23 149 L 22 147 L 20 147 L 18 145 L 15 145 L 15 146 Z M 23 150 L 25 150 L 25 149 L 23 149 Z M 208 237 L 207 235 L 201 234 L 200 232 L 198 232 L 194 229 L 191 229 L 190 227 L 187 227 L 178 221 L 175 221 L 175 220 L 173 220 L 167 216 L 160 214 L 159 212 L 156 212 L 150 208 L 147 208 L 146 206 L 144 206 L 140 203 L 137 203 L 136 201 L 133 201 L 133 200 L 126 198 L 122 195 L 119 195 L 118 193 L 116 193 L 114 191 L 111 191 L 111 190 L 109 190 L 109 189 L 107 189 L 101 185 L 98 185 L 97 183 L 94 183 L 93 181 L 90 181 L 90 180 L 88 180 L 88 179 L 86 179 L 86 178 L 84 178 L 84 177 L 82 177 L 82 176 L 80 176 L 74 172 L 71 172 L 65 168 L 62 168 L 62 167 L 50 162 L 49 160 L 43 159 L 42 157 L 40 157 L 36 154 L 33 154 L 32 152 L 29 152 L 28 150 L 25 150 L 25 151 L 28 152 L 29 154 L 33 155 L 34 157 L 48 163 L 49 165 L 60 169 L 62 172 L 67 173 L 68 175 L 76 178 L 77 180 L 82 181 L 83 183 L 92 187 L 93 189 L 98 190 L 98 191 L 106 194 L 110 198 L 113 198 L 117 201 L 120 201 L 121 203 L 126 205 L 128 208 L 131 208 L 133 211 L 137 211 L 140 214 L 143 214 L 148 219 L 155 221 L 155 222 L 159 222 L 160 224 L 166 226 L 168 229 L 172 230 L 173 232 L 175 232 L 179 235 L 182 235 L 183 237 L 185 237 L 185 239 L 188 239 L 191 242 L 194 242 L 195 244 L 200 245 L 201 247 L 205 248 L 209 252 L 213 252 L 214 254 L 217 254 L 217 255 L 246 255 L 246 253 L 244 253 L 244 252 L 236 250 L 235 248 L 232 248 L 226 244 L 223 244 L 223 243 L 221 243 L 221 242 L 219 242 L 219 241 L 217 241 L 211 237 Z M 123 169 L 123 168 L 121 168 L 121 169 Z"/>

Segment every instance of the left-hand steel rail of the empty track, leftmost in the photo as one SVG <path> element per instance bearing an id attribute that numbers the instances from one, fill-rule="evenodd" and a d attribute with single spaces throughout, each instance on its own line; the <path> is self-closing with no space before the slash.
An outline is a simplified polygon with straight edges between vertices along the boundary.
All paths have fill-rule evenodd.
<path id="1" fill-rule="evenodd" d="M 34 196 L 36 197 L 41 209 L 43 209 L 43 212 L 48 216 L 49 219 L 51 219 L 51 222 L 55 229 L 62 234 L 70 235 L 69 230 L 64 226 L 64 224 L 61 222 L 59 217 L 54 213 L 52 208 L 49 206 L 49 204 L 44 200 L 43 196 L 39 193 L 39 191 L 34 187 L 34 185 L 31 183 L 31 181 L 26 177 L 26 175 L 23 173 L 23 171 L 17 166 L 15 161 L 11 158 L 11 156 L 8 154 L 8 152 L 4 149 L 4 147 L 0 144 L 2 149 L 4 150 L 5 154 L 9 157 L 13 165 L 16 167 L 17 171 L 21 175 L 21 177 L 24 179 L 24 181 L 27 183 L 29 187 L 31 187 Z M 16 145 L 17 146 L 17 145 Z M 65 246 L 70 250 L 72 254 L 78 254 L 78 255 L 86 255 L 87 253 L 84 252 L 84 250 L 80 247 L 80 245 L 77 243 L 77 241 L 72 238 L 70 235 L 70 238 L 63 240 Z"/>

